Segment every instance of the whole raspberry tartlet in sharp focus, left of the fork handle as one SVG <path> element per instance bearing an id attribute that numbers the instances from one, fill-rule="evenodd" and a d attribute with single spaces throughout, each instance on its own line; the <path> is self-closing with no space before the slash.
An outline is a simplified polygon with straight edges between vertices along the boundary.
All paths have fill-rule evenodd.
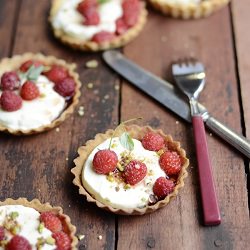
<path id="1" fill-rule="evenodd" d="M 97 134 L 78 149 L 73 183 L 100 208 L 125 215 L 149 213 L 177 195 L 189 160 L 180 143 L 161 130 L 137 125 L 123 130 Z"/>

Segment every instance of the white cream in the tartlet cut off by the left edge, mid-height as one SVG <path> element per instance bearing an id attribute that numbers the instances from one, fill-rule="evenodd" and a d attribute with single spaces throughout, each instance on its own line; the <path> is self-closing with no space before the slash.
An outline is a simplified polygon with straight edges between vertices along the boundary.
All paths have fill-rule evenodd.
<path id="1" fill-rule="evenodd" d="M 22 81 L 24 82 L 25 80 Z M 32 101 L 23 100 L 21 109 L 8 112 L 0 108 L 0 124 L 15 130 L 36 129 L 50 124 L 60 115 L 66 106 L 66 101 L 54 91 L 54 83 L 40 75 L 36 85 L 40 96 Z"/>

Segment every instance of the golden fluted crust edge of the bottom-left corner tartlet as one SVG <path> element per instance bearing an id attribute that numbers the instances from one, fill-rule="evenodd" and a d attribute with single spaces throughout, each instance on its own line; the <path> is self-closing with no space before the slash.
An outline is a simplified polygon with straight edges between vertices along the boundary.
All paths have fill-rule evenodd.
<path id="1" fill-rule="evenodd" d="M 17 200 L 8 198 L 4 201 L 0 201 L 0 206 L 4 205 L 23 205 L 25 207 L 31 207 L 37 210 L 39 213 L 51 211 L 54 212 L 56 215 L 59 215 L 61 218 L 64 219 L 68 229 L 69 229 L 69 236 L 72 240 L 71 249 L 76 250 L 76 245 L 78 240 L 75 236 L 76 234 L 76 227 L 71 224 L 71 220 L 68 215 L 63 213 L 63 209 L 61 207 L 52 207 L 49 203 L 42 204 L 38 199 L 34 199 L 28 201 L 26 198 L 19 198 Z"/>

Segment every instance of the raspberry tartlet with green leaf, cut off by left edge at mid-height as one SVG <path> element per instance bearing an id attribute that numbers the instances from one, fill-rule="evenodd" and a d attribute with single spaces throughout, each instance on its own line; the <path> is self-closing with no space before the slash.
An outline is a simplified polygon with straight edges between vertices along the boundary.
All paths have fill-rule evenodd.
<path id="1" fill-rule="evenodd" d="M 0 131 L 16 135 L 54 128 L 80 96 L 75 64 L 27 53 L 0 62 Z"/>

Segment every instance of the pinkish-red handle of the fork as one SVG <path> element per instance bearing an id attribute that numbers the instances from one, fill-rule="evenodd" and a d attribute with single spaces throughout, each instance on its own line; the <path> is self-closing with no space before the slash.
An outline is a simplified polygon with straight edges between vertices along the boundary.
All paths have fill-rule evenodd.
<path id="1" fill-rule="evenodd" d="M 219 225 L 221 217 L 214 187 L 203 119 L 201 116 L 193 116 L 192 123 L 199 169 L 204 224 L 207 226 Z"/>

